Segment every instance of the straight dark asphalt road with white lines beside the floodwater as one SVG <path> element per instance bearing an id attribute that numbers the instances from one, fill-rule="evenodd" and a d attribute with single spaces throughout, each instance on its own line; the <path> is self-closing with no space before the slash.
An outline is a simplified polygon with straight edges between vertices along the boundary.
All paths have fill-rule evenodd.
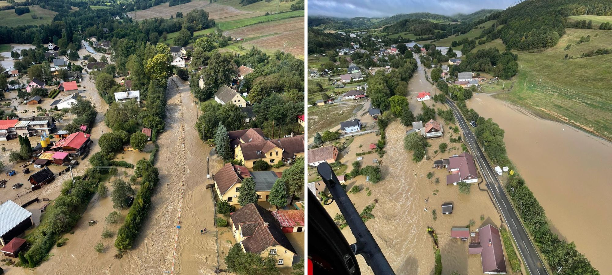
<path id="1" fill-rule="evenodd" d="M 485 177 L 485 181 L 487 182 L 487 188 L 489 191 L 491 191 L 491 194 L 493 194 L 493 199 L 495 200 L 498 209 L 501 211 L 504 220 L 506 220 L 506 226 L 517 243 L 518 251 L 521 254 L 524 265 L 532 275 L 548 274 L 542 259 L 540 259 L 540 255 L 537 254 L 534 244 L 531 242 L 529 235 L 527 235 L 527 231 L 523 227 L 520 219 L 518 219 L 518 215 L 512 207 L 509 197 L 506 195 L 503 186 L 499 182 L 496 172 L 494 172 L 491 164 L 488 163 L 487 158 L 485 158 L 484 153 L 480 149 L 480 146 L 476 141 L 476 136 L 470 129 L 471 126 L 463 119 L 459 108 L 455 106 L 455 103 L 450 101 L 448 98 L 446 99 L 446 103 L 453 110 L 461 130 L 463 130 L 464 141 L 466 141 L 470 147 L 474 158 L 476 158 L 476 162 L 482 170 L 482 175 Z M 507 269 L 510 269 L 510 266 L 507 266 Z"/>

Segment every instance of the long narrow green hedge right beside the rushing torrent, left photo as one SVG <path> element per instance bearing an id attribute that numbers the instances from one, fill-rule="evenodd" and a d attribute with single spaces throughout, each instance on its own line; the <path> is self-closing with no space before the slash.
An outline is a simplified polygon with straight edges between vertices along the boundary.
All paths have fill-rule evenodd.
<path id="1" fill-rule="evenodd" d="M 151 196 L 155 191 L 155 186 L 159 182 L 159 171 L 153 167 L 150 161 L 146 161 L 146 166 L 139 166 L 138 169 L 142 171 L 143 181 L 140 185 L 138 193 L 134 198 L 134 204 L 130 207 L 130 211 L 125 217 L 125 222 L 119 231 L 117 232 L 117 240 L 115 240 L 115 248 L 118 251 L 123 252 L 132 248 L 134 241 L 138 238 L 138 233 L 143 226 L 143 222 L 149 212 L 149 204 L 151 203 Z M 138 161 L 139 165 L 143 161 Z"/>

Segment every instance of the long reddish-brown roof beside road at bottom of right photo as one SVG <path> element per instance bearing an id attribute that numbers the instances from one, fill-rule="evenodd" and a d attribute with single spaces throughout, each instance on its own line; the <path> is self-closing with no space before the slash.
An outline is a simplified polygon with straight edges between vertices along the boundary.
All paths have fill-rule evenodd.
<path id="1" fill-rule="evenodd" d="M 480 235 L 480 246 L 482 251 L 483 273 L 506 273 L 506 260 L 504 260 L 504 250 L 502 249 L 499 229 L 488 224 L 478 230 Z"/>

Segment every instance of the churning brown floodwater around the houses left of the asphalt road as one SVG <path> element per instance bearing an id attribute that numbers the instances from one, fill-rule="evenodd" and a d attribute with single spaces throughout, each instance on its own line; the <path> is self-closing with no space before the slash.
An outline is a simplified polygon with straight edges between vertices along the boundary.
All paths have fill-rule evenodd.
<path id="1" fill-rule="evenodd" d="M 347 190 L 354 185 L 364 188 L 357 194 L 349 194 L 349 197 L 359 212 L 375 199 L 378 200 L 372 211 L 375 218 L 367 221 L 366 226 L 395 273 L 427 275 L 433 273 L 435 266 L 433 243 L 426 232 L 427 226 L 431 226 L 436 229 L 439 236 L 444 274 L 453 271 L 459 274 L 482 274 L 480 255 L 468 255 L 468 244 L 458 239 L 451 239 L 450 229 L 453 226 L 466 226 L 470 219 L 476 221 L 476 225 L 471 227 L 472 230 L 482 224 L 499 227 L 501 221 L 493 202 L 487 191 L 479 191 L 477 185 L 472 186 L 471 194 L 460 194 L 458 186 L 446 185 L 446 171 L 432 168 L 433 160 L 460 153 L 461 145 L 449 142 L 450 132 L 446 133 L 444 138 L 428 139 L 432 145 L 428 150 L 431 159 L 414 163 L 412 155 L 403 148 L 405 131 L 408 129 L 397 121 L 389 125 L 386 131 L 387 153 L 382 159 L 379 158 L 382 161 L 384 180 L 376 185 L 365 182 L 364 176 L 349 180 L 346 182 Z M 356 142 L 359 141 L 355 139 L 351 146 L 358 146 Z M 369 141 L 366 139 L 363 141 L 366 143 L 364 147 L 369 145 Z M 442 142 L 449 144 L 449 151 L 434 154 L 433 151 Z M 352 161 L 354 152 L 349 155 L 351 156 L 346 158 Z M 345 161 L 345 156 L 341 161 Z M 371 161 L 362 163 L 362 167 L 366 165 L 372 165 Z M 434 174 L 431 180 L 427 178 L 428 172 Z M 435 183 L 436 177 L 440 178 L 438 184 Z M 371 191 L 370 196 L 367 195 L 365 188 Z M 425 199 L 428 199 L 427 203 Z M 455 210 L 451 215 L 442 215 L 441 204 L 444 202 L 453 202 Z M 436 221 L 431 214 L 434 209 L 438 211 Z M 332 218 L 340 213 L 335 203 L 326 206 L 326 210 Z M 481 215 L 485 217 L 484 221 L 480 220 Z M 348 228 L 341 232 L 349 243 L 355 242 Z M 357 256 L 357 260 L 362 274 L 373 274 L 363 257 Z"/>

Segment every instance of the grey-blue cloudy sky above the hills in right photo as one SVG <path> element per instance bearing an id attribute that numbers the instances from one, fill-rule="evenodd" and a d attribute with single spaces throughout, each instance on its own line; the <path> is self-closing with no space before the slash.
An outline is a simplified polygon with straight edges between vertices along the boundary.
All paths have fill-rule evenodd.
<path id="1" fill-rule="evenodd" d="M 308 15 L 353 18 L 398 13 L 431 12 L 442 15 L 506 9 L 517 0 L 308 0 Z"/>

